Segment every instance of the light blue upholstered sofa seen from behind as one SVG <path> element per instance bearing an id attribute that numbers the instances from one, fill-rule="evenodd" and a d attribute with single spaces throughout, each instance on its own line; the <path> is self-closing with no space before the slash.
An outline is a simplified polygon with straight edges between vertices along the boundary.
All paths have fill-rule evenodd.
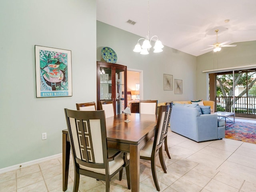
<path id="1" fill-rule="evenodd" d="M 225 121 L 218 119 L 216 114 L 200 114 L 198 108 L 198 104 L 174 104 L 170 117 L 172 132 L 196 142 L 224 138 Z"/>

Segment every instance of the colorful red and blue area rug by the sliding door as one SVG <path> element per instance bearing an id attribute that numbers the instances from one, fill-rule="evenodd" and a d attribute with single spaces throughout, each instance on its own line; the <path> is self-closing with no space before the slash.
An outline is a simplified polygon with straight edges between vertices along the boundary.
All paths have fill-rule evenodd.
<path id="1" fill-rule="evenodd" d="M 226 127 L 225 138 L 256 144 L 256 123 L 235 122 Z"/>

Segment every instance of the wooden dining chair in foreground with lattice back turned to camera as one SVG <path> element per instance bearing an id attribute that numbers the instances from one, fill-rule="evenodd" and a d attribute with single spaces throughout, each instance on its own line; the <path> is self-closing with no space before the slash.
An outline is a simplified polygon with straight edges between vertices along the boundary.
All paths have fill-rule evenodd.
<path id="1" fill-rule="evenodd" d="M 109 192 L 110 179 L 124 167 L 130 189 L 130 155 L 108 149 L 104 110 L 64 110 L 74 160 L 73 192 L 78 191 L 80 175 L 105 181 L 106 192 Z"/>

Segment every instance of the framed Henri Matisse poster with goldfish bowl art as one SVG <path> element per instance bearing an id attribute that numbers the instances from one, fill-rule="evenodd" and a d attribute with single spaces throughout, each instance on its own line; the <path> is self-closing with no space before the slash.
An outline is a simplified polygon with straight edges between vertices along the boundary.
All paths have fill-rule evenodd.
<path id="1" fill-rule="evenodd" d="M 35 45 L 36 97 L 72 96 L 71 51 Z"/>

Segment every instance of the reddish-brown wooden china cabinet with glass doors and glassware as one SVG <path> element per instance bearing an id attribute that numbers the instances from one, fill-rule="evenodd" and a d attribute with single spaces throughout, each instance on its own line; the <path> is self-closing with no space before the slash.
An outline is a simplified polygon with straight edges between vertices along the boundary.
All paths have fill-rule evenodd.
<path id="1" fill-rule="evenodd" d="M 122 114 L 127 107 L 127 67 L 97 61 L 97 110 L 100 101 L 112 100 L 115 114 Z"/>

